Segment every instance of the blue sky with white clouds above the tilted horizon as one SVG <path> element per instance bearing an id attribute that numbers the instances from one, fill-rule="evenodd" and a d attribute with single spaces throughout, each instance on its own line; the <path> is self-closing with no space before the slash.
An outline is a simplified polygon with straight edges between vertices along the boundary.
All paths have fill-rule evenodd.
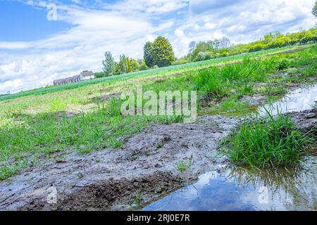
<path id="1" fill-rule="evenodd" d="M 191 41 L 248 43 L 268 32 L 316 25 L 315 0 L 0 0 L 0 94 L 102 70 L 105 51 L 142 58 L 146 41 L 167 37 L 175 56 Z"/>

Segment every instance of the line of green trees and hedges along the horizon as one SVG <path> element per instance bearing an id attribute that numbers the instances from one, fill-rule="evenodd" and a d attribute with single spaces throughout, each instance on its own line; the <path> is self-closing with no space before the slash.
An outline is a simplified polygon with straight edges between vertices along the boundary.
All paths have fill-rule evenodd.
<path id="1" fill-rule="evenodd" d="M 317 17 L 317 1 L 313 5 L 311 13 Z M 189 44 L 189 53 L 180 59 L 175 58 L 173 47 L 166 37 L 159 36 L 154 42 L 148 41 L 144 44 L 143 59 L 133 59 L 124 54 L 119 60 L 114 60 L 110 51 L 104 53 L 102 61 L 103 72 L 96 72 L 95 77 L 108 77 L 120 75 L 127 72 L 149 70 L 150 68 L 161 68 L 169 65 L 209 60 L 225 56 L 234 56 L 241 53 L 261 51 L 266 49 L 280 48 L 294 44 L 309 44 L 317 42 L 317 28 L 302 30 L 292 34 L 281 34 L 273 32 L 266 34 L 259 41 L 249 44 L 232 45 L 230 39 L 214 39 L 209 41 L 192 41 Z"/>

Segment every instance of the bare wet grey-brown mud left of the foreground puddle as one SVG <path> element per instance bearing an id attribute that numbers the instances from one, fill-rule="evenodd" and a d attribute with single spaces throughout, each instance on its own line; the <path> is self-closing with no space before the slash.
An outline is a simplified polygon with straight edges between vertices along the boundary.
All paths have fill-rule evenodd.
<path id="1" fill-rule="evenodd" d="M 316 129 L 317 110 L 290 115 L 302 131 Z M 218 142 L 238 123 L 237 117 L 200 116 L 195 124 L 148 127 L 120 149 L 46 160 L 0 182 L 0 210 L 129 210 L 226 165 Z M 177 165 L 189 165 L 190 158 L 192 165 L 180 172 Z"/>

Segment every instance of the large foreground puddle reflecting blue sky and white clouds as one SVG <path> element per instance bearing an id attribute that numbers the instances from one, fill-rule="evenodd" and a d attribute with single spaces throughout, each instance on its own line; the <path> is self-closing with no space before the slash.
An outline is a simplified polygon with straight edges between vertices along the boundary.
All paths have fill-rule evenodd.
<path id="1" fill-rule="evenodd" d="M 195 184 L 161 196 L 142 210 L 316 210 L 316 181 L 310 170 L 208 172 Z"/>

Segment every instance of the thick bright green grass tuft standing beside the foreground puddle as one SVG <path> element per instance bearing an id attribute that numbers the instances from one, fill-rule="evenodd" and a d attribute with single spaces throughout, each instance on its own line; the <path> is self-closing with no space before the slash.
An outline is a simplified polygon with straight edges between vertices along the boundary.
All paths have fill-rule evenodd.
<path id="1" fill-rule="evenodd" d="M 290 167 L 299 165 L 304 146 L 312 143 L 307 134 L 294 129 L 290 117 L 278 113 L 244 122 L 228 137 L 225 155 L 238 166 Z"/>

